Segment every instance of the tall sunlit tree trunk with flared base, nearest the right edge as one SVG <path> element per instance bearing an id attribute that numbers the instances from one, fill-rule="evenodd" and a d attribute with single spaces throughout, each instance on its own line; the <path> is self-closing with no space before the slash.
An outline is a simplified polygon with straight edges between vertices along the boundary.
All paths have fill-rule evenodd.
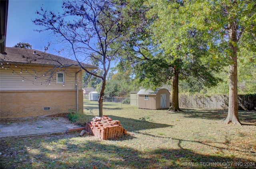
<path id="1" fill-rule="evenodd" d="M 229 65 L 229 97 L 228 97 L 228 116 L 224 123 L 240 124 L 238 118 L 238 94 L 237 94 L 237 33 L 236 24 L 232 24 L 228 30 L 230 37 L 230 48 L 232 54 L 230 56 L 231 62 Z"/>

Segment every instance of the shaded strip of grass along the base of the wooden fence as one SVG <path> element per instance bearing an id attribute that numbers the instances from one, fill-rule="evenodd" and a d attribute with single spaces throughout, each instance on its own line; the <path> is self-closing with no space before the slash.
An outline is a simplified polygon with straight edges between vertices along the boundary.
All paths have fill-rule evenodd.
<path id="1" fill-rule="evenodd" d="M 228 110 L 218 109 L 194 109 L 182 108 L 184 112 L 168 112 L 176 114 L 184 114 L 188 118 L 202 118 L 210 120 L 224 120 L 228 115 Z M 238 111 L 238 117 L 242 125 L 256 125 L 256 112 L 251 111 Z"/>

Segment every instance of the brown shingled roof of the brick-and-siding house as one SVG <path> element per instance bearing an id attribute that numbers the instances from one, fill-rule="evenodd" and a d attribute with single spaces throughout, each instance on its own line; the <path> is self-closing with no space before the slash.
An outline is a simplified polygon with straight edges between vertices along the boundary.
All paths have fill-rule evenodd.
<path id="1" fill-rule="evenodd" d="M 0 60 L 14 63 L 30 63 L 43 65 L 63 65 L 66 67 L 80 67 L 77 61 L 45 53 L 34 49 L 25 49 L 17 47 L 6 47 L 5 53 L 0 53 Z M 97 69 L 98 67 L 86 63 L 81 63 L 88 70 Z"/>

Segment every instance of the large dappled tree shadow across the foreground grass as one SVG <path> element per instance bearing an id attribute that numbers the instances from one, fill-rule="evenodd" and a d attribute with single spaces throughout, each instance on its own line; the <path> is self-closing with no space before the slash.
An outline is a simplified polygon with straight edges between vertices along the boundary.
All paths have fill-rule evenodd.
<path id="1" fill-rule="evenodd" d="M 38 140 L 42 143 L 34 147 L 36 139 L 33 138 L 30 142 L 24 140 L 26 143 L 20 145 L 20 149 L 24 149 L 22 152 L 15 148 L 9 149 L 8 146 L 4 145 L 6 143 L 2 143 L 4 146 L 1 146 L 1 152 L 5 156 L 1 158 L 1 168 L 2 166 L 5 166 L 6 169 L 18 166 L 88 169 L 93 167 L 98 169 L 238 168 L 240 167 L 238 164 L 250 162 L 246 158 L 201 154 L 192 149 L 184 149 L 181 146 L 183 140 L 179 139 L 177 139 L 178 149 L 153 149 L 148 151 L 100 140 L 74 142 L 73 138 L 66 138 L 65 136 L 42 138 Z M 34 147 L 38 151 L 31 151 L 29 150 L 30 147 Z M 16 162 L 9 163 L 9 161 Z M 254 168 L 254 166 L 248 168 Z"/>

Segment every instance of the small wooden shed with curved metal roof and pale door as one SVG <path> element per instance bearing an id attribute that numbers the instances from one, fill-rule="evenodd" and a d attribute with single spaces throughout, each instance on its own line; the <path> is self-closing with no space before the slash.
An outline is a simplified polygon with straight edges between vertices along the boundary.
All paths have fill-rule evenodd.
<path id="1" fill-rule="evenodd" d="M 137 95 L 138 108 L 157 110 L 170 107 L 170 92 L 166 88 L 141 89 Z"/>

